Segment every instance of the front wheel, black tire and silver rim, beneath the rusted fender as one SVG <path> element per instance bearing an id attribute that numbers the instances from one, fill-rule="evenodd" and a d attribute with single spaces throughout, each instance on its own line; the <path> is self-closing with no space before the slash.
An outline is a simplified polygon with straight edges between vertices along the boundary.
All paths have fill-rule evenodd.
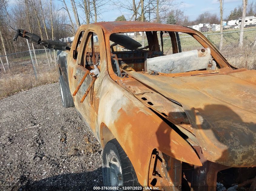
<path id="1" fill-rule="evenodd" d="M 103 150 L 102 177 L 105 186 L 141 186 L 130 159 L 116 139 L 109 141 Z"/>

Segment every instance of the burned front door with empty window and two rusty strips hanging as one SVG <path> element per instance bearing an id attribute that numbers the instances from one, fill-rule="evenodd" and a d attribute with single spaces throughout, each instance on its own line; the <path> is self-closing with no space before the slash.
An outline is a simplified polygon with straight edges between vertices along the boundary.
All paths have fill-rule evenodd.
<path id="1" fill-rule="evenodd" d="M 82 118 L 85 120 L 87 125 L 91 128 L 91 130 L 96 134 L 96 131 L 98 129 L 96 121 L 97 121 L 97 116 L 98 116 L 98 103 L 99 103 L 97 94 L 98 94 L 98 89 L 101 85 L 102 77 L 104 76 L 104 71 L 105 71 L 106 66 L 105 66 L 105 64 L 103 64 L 103 62 L 100 62 L 100 65 L 98 66 L 98 69 L 100 70 L 100 74 L 98 77 L 92 77 L 92 75 L 90 75 L 89 70 L 92 68 L 86 68 L 86 67 L 84 67 L 85 65 L 82 66 L 82 62 L 84 61 L 83 56 L 86 59 L 86 57 L 85 57 L 86 55 L 84 55 L 85 51 L 87 48 L 90 48 L 90 47 L 88 47 L 90 41 L 94 43 L 94 41 L 91 38 L 92 37 L 91 33 L 94 33 L 98 36 L 98 42 L 101 44 L 101 46 L 99 46 L 99 52 L 100 52 L 101 59 L 102 60 L 106 59 L 105 49 L 103 48 L 103 47 L 105 47 L 103 33 L 100 30 L 97 30 L 95 28 L 94 29 L 90 29 L 90 28 L 86 29 L 86 31 L 84 33 L 85 38 L 83 38 L 81 40 L 81 46 L 80 46 L 80 50 L 78 53 L 76 65 L 73 68 L 73 73 L 77 79 L 74 79 L 72 86 L 73 86 L 73 88 L 77 88 L 78 84 L 79 85 L 81 84 L 81 87 L 79 88 L 77 94 L 75 96 L 73 96 L 74 102 L 75 102 L 76 108 L 77 108 L 78 112 L 81 114 Z M 102 46 L 102 43 L 103 43 L 103 46 Z M 92 51 L 95 51 L 95 47 L 94 46 L 92 46 L 92 47 L 93 47 Z M 99 60 L 100 60 L 100 58 L 99 58 Z M 83 78 L 84 78 L 84 81 L 81 83 Z M 88 92 L 86 92 L 86 91 L 88 91 Z M 85 96 L 85 92 L 88 94 L 86 95 L 85 99 L 83 101 L 81 101 L 82 97 Z M 88 108 L 91 108 L 92 110 L 88 110 Z"/>

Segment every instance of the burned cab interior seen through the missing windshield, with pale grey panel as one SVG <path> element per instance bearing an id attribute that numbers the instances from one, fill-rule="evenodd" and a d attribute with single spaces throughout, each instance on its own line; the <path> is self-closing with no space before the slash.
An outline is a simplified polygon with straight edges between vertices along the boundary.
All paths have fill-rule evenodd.
<path id="1" fill-rule="evenodd" d="M 138 37 L 145 33 L 145 40 L 138 42 L 127 33 L 110 35 L 111 62 L 116 75 L 123 78 L 125 71 L 147 72 L 148 74 L 173 74 L 196 70 L 215 70 L 216 62 L 209 48 L 204 48 L 191 37 L 191 44 L 184 44 L 178 32 L 136 32 Z M 181 33 L 183 36 L 188 35 Z M 168 42 L 170 41 L 170 42 Z M 144 43 L 145 46 L 142 46 Z M 171 46 L 168 46 L 171 44 Z M 218 68 L 220 68 L 218 66 Z"/>

